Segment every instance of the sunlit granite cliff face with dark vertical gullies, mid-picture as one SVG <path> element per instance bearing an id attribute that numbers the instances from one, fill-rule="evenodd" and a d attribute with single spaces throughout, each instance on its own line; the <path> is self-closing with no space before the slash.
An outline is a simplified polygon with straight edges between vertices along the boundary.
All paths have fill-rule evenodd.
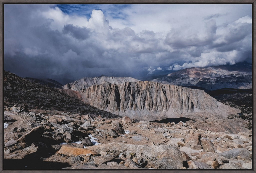
<path id="1" fill-rule="evenodd" d="M 222 117 L 238 110 L 202 90 L 151 81 L 104 82 L 78 90 L 82 100 L 101 110 L 131 118 L 155 120 L 207 112 Z"/>

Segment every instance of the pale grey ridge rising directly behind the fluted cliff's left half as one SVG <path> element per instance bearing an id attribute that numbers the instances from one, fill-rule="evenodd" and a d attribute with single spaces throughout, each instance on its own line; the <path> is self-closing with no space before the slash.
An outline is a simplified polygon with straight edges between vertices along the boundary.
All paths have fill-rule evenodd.
<path id="1" fill-rule="evenodd" d="M 100 85 L 105 82 L 113 83 L 113 84 L 121 84 L 124 82 L 138 82 L 140 80 L 130 78 L 130 77 L 107 77 L 101 75 L 101 77 L 94 77 L 94 78 L 81 78 L 71 83 L 67 83 L 62 88 L 63 89 L 72 89 L 74 91 L 80 92 L 83 89 L 89 88 L 92 85 Z"/>

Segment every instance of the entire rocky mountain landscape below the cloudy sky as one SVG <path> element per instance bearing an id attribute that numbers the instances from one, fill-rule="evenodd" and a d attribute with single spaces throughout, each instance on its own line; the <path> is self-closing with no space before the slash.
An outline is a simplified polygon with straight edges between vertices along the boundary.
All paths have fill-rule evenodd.
<path id="1" fill-rule="evenodd" d="M 65 85 L 5 71 L 4 108 L 5 168 L 252 167 L 248 63 Z"/>

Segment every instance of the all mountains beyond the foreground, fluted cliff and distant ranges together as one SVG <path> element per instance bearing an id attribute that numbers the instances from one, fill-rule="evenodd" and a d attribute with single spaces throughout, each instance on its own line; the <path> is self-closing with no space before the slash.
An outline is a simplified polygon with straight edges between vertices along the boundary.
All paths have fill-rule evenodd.
<path id="1" fill-rule="evenodd" d="M 186 68 L 152 81 L 101 75 L 81 78 L 61 86 L 54 80 L 27 79 L 59 88 L 60 92 L 86 104 L 133 119 L 188 117 L 200 112 L 226 118 L 230 114 L 240 113 L 239 110 L 218 102 L 210 96 L 214 95 L 211 90 L 251 88 L 252 72 L 251 64 L 240 63 Z"/>

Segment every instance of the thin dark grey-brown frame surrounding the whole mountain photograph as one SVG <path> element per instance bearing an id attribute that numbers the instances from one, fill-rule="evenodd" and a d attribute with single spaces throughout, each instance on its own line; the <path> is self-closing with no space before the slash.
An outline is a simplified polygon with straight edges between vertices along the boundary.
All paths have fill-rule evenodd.
<path id="1" fill-rule="evenodd" d="M 227 170 L 213 170 L 213 169 L 73 169 L 73 170 L 40 170 L 40 169 L 34 169 L 34 170 L 17 170 L 17 169 L 4 169 L 4 5 L 5 4 L 251 4 L 252 5 L 252 143 L 253 143 L 253 150 L 252 150 L 252 163 L 253 167 L 250 170 L 246 169 L 227 169 Z M 0 138 L 2 139 L 0 143 L 0 172 L 256 172 L 256 151 L 254 150 L 256 148 L 256 125 L 255 125 L 255 110 L 256 110 L 256 1 L 255 0 L 0 0 Z"/>

